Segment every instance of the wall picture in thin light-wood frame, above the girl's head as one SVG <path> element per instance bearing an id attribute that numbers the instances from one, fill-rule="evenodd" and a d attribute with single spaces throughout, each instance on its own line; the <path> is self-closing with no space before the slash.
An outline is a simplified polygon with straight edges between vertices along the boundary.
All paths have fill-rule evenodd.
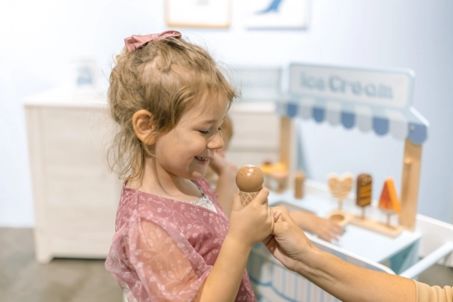
<path id="1" fill-rule="evenodd" d="M 230 0 L 164 0 L 165 19 L 174 27 L 230 26 Z"/>

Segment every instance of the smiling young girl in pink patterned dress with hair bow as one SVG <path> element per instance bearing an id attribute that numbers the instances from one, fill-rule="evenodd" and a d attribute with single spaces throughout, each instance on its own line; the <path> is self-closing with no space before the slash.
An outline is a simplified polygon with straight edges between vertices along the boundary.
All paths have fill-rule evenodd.
<path id="1" fill-rule="evenodd" d="M 268 191 L 242 207 L 224 161 L 216 193 L 203 179 L 235 90 L 179 32 L 125 42 L 108 91 L 126 180 L 106 269 L 129 301 L 255 301 L 245 266 L 273 228 Z"/>

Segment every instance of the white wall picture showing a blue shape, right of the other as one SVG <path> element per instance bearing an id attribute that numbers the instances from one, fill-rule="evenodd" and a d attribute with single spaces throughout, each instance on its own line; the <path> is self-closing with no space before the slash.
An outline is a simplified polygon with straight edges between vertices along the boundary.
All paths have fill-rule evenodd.
<path id="1" fill-rule="evenodd" d="M 247 0 L 246 27 L 303 29 L 308 26 L 310 0 Z"/>

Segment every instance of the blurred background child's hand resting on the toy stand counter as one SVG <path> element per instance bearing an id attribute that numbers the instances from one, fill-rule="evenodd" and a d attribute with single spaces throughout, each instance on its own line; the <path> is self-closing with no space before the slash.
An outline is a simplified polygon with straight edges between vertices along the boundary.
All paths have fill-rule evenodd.
<path id="1" fill-rule="evenodd" d="M 290 212 L 290 216 L 301 229 L 318 235 L 318 237 L 327 242 L 338 241 L 338 237 L 343 233 L 338 223 L 312 213 L 303 211 Z"/>

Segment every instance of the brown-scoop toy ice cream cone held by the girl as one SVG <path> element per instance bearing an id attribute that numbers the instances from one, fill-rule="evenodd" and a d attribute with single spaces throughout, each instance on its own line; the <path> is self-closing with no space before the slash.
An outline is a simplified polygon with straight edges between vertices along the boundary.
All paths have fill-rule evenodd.
<path id="1" fill-rule="evenodd" d="M 263 183 L 263 173 L 255 165 L 244 165 L 237 171 L 236 185 L 244 207 L 255 198 Z"/>

